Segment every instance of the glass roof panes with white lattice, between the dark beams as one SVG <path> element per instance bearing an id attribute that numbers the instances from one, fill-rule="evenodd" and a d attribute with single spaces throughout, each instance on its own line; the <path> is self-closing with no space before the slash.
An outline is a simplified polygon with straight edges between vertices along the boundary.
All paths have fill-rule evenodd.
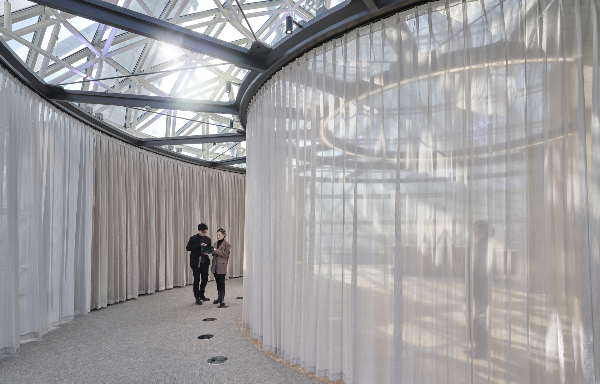
<path id="1" fill-rule="evenodd" d="M 285 36 L 286 16 L 302 24 L 320 7 L 340 0 L 116 0 L 107 1 L 157 19 L 175 23 L 243 47 L 258 40 L 273 45 Z M 4 29 L 4 1 L 0 1 L 0 33 L 16 54 L 46 82 L 65 89 L 123 94 L 230 101 L 238 91 L 225 92 L 227 81 L 241 83 L 247 70 L 199 53 L 180 49 L 131 32 L 112 28 L 35 2 L 11 0 L 11 38 Z M 18 41 L 17 41 L 17 40 Z M 52 59 L 35 49 L 52 53 Z M 104 59 L 102 59 L 104 57 Z M 76 71 L 94 81 L 82 82 Z M 160 73 L 155 73 L 160 72 Z M 141 73 L 141 74 L 140 74 Z M 148 73 L 144 75 L 143 73 Z M 139 74 L 138 76 L 131 76 Z M 106 79 L 107 77 L 118 79 Z M 101 79 L 101 80 L 95 80 Z M 73 83 L 76 82 L 76 83 Z M 65 84 L 70 83 L 70 84 Z M 79 104 L 102 113 L 104 121 L 137 137 L 188 136 L 235 132 L 238 116 L 182 110 L 136 109 L 102 104 Z M 233 120 L 233 129 L 229 121 Z M 190 144 L 168 149 L 203 160 L 245 156 L 245 142 Z M 245 167 L 245 164 L 236 164 Z"/>

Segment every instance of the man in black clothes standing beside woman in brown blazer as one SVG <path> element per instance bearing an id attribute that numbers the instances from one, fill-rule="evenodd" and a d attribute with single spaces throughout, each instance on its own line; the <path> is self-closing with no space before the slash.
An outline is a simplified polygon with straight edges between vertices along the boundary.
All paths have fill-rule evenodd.
<path id="1" fill-rule="evenodd" d="M 209 301 L 210 299 L 204 295 L 204 289 L 206 283 L 208 283 L 208 266 L 211 264 L 211 260 L 208 258 L 208 253 L 200 253 L 200 245 L 212 245 L 211 238 L 206 236 L 208 226 L 205 223 L 198 224 L 198 234 L 191 236 L 188 241 L 186 250 L 190 252 L 190 267 L 194 274 L 194 296 L 196 296 L 196 305 L 202 305 L 202 301 Z M 202 277 L 202 283 L 200 288 L 200 277 Z"/>

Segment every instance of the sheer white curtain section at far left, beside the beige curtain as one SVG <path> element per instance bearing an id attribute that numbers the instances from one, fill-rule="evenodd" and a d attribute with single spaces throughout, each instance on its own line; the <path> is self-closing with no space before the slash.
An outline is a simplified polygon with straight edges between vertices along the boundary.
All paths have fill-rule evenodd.
<path id="1" fill-rule="evenodd" d="M 0 353 L 89 311 L 92 140 L 0 68 Z"/>

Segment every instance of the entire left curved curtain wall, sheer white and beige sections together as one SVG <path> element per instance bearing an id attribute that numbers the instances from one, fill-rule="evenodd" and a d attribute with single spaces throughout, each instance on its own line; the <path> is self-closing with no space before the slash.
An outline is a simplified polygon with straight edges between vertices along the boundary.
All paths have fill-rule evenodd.
<path id="1" fill-rule="evenodd" d="M 112 139 L 0 68 L 0 353 L 76 314 L 190 284 L 188 238 L 227 230 L 242 275 L 245 176 Z M 191 289 L 190 289 L 190 300 Z"/>

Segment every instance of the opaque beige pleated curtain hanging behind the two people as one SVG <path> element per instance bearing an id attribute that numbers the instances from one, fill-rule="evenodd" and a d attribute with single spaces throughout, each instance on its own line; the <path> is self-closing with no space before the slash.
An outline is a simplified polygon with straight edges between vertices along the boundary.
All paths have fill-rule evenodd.
<path id="1" fill-rule="evenodd" d="M 185 245 L 202 221 L 213 239 L 218 228 L 227 231 L 227 275 L 242 275 L 243 175 L 167 160 L 109 137 L 98 137 L 93 153 L 92 308 L 190 284 Z"/>

